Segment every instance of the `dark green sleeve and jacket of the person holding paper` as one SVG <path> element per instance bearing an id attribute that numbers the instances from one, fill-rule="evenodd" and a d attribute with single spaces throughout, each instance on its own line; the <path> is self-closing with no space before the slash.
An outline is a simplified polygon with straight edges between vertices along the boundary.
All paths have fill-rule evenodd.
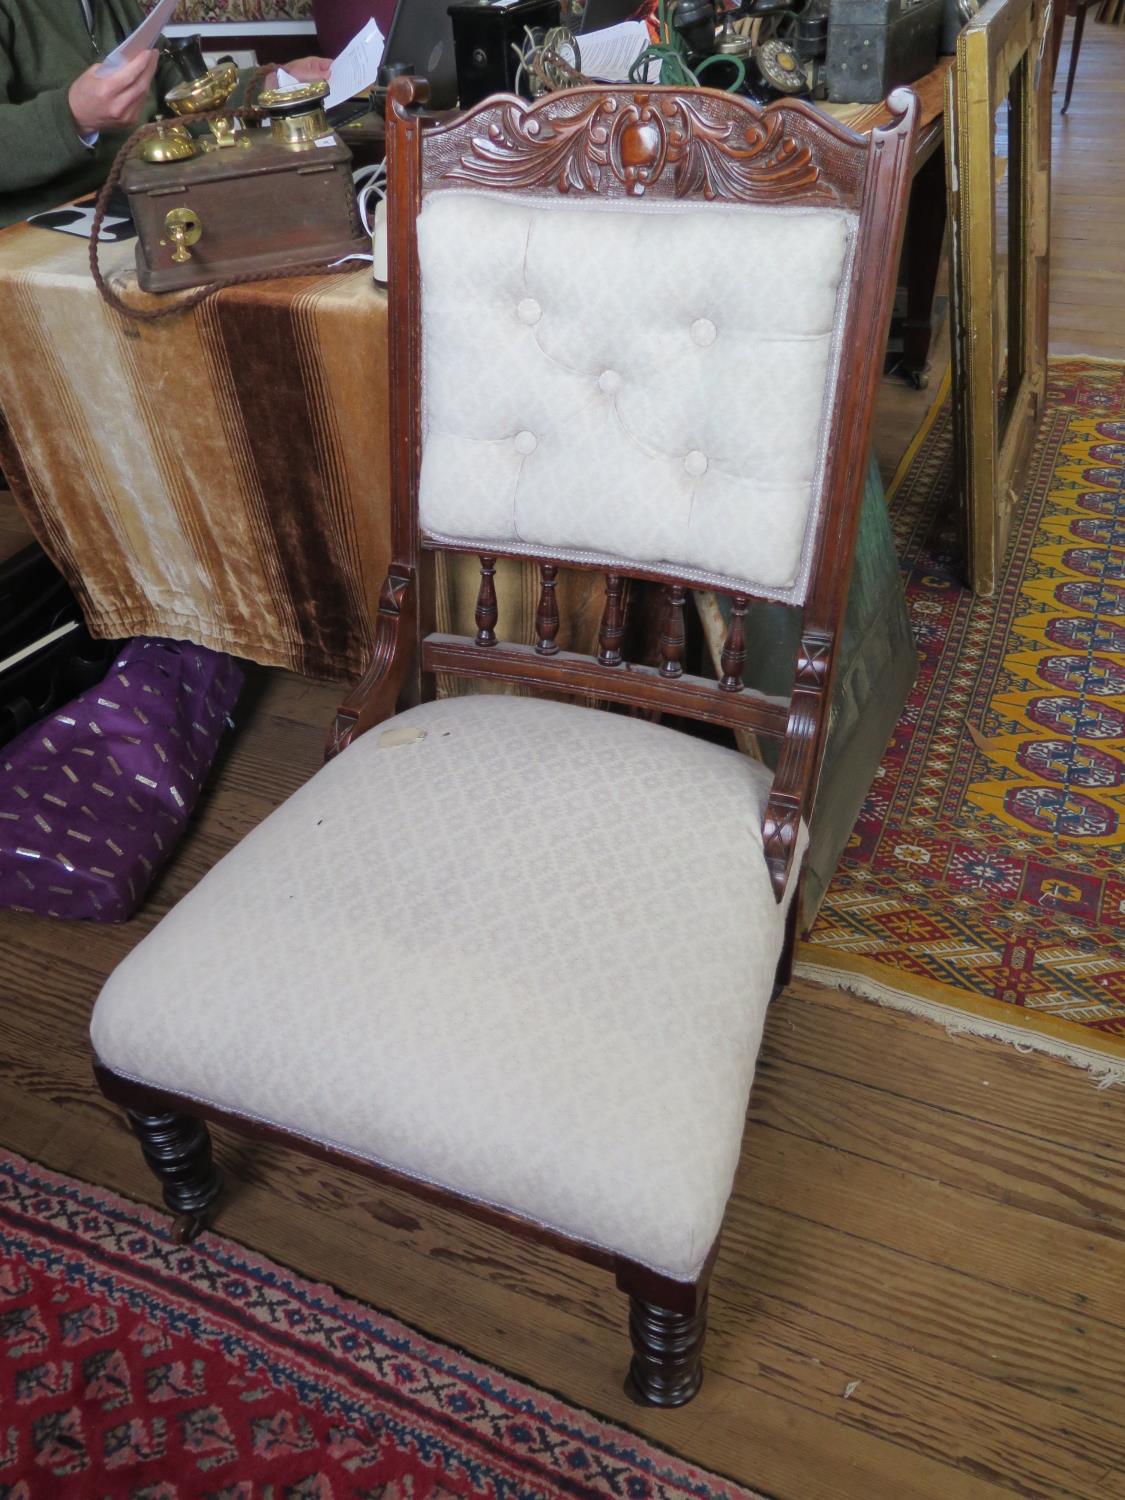
<path id="1" fill-rule="evenodd" d="M 0 0 L 0 225 L 93 192 L 110 176 L 128 130 L 104 130 L 93 147 L 78 136 L 68 90 L 141 21 L 138 0 Z M 142 118 L 180 81 L 160 58 Z"/>

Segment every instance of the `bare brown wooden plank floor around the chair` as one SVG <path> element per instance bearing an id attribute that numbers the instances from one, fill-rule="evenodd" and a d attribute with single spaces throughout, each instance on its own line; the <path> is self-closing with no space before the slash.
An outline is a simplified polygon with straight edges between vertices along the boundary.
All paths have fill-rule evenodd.
<path id="1" fill-rule="evenodd" d="M 1090 24 L 1056 129 L 1056 260 L 1074 300 L 1053 322 L 1056 348 L 1119 357 L 1125 294 L 1092 314 L 1078 248 L 1125 288 L 1120 78 L 1125 30 Z M 927 400 L 891 394 L 888 441 Z M 90 1004 L 153 921 L 315 770 L 334 698 L 255 676 L 136 921 L 0 914 L 0 1142 L 154 1202 L 90 1086 Z M 783 996 L 716 1269 L 706 1382 L 678 1413 L 621 1394 L 622 1308 L 604 1276 L 296 1155 L 220 1150 L 237 1184 L 220 1227 L 236 1239 L 777 1500 L 1125 1496 L 1125 1094 L 1064 1064 L 808 986 Z"/>

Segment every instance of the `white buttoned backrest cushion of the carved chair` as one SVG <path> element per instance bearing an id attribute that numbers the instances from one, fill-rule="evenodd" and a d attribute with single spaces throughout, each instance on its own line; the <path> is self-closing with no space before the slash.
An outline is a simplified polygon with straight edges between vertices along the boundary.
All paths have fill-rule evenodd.
<path id="1" fill-rule="evenodd" d="M 802 597 L 854 228 L 430 194 L 423 528 Z"/>

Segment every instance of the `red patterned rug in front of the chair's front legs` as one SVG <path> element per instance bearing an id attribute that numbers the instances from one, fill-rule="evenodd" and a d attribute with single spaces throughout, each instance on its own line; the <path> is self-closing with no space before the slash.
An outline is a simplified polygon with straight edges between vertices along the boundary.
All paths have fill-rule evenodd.
<path id="1" fill-rule="evenodd" d="M 754 1500 L 168 1222 L 0 1152 L 0 1500 Z"/>

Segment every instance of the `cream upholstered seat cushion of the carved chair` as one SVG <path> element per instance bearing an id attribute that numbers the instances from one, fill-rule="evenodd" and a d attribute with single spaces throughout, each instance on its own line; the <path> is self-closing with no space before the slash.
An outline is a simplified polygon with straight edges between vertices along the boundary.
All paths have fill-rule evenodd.
<path id="1" fill-rule="evenodd" d="M 94 1048 L 690 1280 L 730 1192 L 782 948 L 768 782 L 600 710 L 410 710 L 132 951 Z"/>

